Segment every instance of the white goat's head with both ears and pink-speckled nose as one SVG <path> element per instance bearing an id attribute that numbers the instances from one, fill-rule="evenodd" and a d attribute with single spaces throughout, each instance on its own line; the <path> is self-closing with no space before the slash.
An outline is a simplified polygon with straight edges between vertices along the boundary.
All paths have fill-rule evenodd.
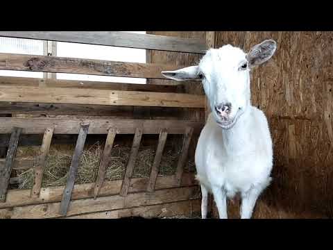
<path id="1" fill-rule="evenodd" d="M 202 81 L 214 118 L 222 128 L 231 128 L 250 106 L 250 69 L 270 59 L 274 40 L 265 40 L 244 53 L 230 44 L 210 49 L 199 65 L 162 74 L 176 81 Z"/>

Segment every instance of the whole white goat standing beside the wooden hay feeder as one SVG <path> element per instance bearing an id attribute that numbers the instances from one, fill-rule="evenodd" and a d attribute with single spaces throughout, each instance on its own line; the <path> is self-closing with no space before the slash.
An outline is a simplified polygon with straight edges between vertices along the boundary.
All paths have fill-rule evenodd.
<path id="1" fill-rule="evenodd" d="M 227 219 L 227 198 L 241 194 L 241 218 L 250 219 L 259 194 L 271 182 L 273 147 L 267 119 L 250 103 L 250 69 L 273 56 L 274 40 L 244 53 L 230 44 L 210 49 L 198 66 L 162 72 L 177 81 L 202 81 L 210 102 L 207 123 L 196 147 L 196 178 L 202 193 L 201 215 L 207 217 L 208 192 L 219 217 Z"/>

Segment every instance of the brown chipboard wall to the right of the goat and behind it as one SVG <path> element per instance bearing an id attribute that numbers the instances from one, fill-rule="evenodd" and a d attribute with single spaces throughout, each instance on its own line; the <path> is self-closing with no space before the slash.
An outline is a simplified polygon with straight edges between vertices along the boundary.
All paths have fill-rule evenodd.
<path id="1" fill-rule="evenodd" d="M 253 105 L 271 127 L 273 183 L 254 217 L 332 217 L 333 33 L 216 32 L 216 47 L 233 44 L 248 51 L 269 38 L 278 49 L 253 70 L 251 90 Z"/>

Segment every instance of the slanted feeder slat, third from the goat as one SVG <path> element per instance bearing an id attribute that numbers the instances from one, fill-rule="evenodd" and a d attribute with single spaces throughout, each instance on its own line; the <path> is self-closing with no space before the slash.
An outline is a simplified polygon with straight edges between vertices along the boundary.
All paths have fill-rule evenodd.
<path id="1" fill-rule="evenodd" d="M 142 138 L 143 128 L 139 127 L 135 130 L 135 135 L 133 139 L 132 149 L 130 149 L 130 157 L 126 165 L 125 176 L 123 176 L 123 183 L 121 184 L 121 189 L 119 195 L 121 197 L 126 197 L 128 190 L 130 188 L 130 178 L 133 174 L 133 169 L 135 165 L 135 160 L 137 158 L 137 152 L 139 151 L 140 142 Z"/>

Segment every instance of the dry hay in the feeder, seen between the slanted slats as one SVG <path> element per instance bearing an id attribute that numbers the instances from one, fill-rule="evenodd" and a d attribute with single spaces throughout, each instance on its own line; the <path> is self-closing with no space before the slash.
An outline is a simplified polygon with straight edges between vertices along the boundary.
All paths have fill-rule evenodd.
<path id="1" fill-rule="evenodd" d="M 71 165 L 71 158 L 75 145 L 51 145 L 46 158 L 46 167 L 42 180 L 42 187 L 65 185 L 67 172 Z M 99 169 L 99 162 L 104 145 L 96 143 L 85 147 L 81 158 L 76 184 L 93 183 Z M 19 147 L 17 157 L 34 157 L 38 155 L 39 147 Z M 160 175 L 172 175 L 176 171 L 180 147 L 165 147 L 160 164 Z M 111 151 L 110 165 L 105 174 L 106 181 L 123 178 L 126 163 L 130 155 L 130 147 L 117 147 Z M 155 147 L 140 147 L 137 155 L 133 178 L 150 175 L 151 166 L 155 157 Z M 194 172 L 194 163 L 188 160 L 185 172 Z M 19 189 L 30 189 L 34 182 L 34 169 L 17 170 L 17 176 L 22 180 Z"/>

